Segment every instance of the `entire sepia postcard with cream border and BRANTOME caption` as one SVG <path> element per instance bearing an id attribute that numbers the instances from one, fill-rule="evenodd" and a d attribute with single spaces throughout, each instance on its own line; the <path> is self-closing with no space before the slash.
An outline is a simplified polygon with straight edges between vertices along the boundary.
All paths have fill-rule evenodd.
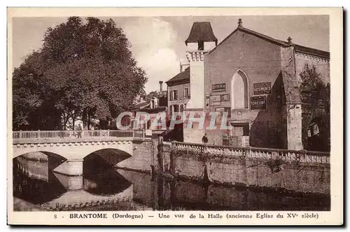
<path id="1" fill-rule="evenodd" d="M 8 224 L 342 225 L 342 8 L 8 8 Z"/>

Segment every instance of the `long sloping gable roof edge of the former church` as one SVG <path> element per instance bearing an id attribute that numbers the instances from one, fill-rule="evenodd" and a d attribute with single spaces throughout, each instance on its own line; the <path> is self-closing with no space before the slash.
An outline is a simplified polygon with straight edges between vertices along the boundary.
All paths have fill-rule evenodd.
<path id="1" fill-rule="evenodd" d="M 272 37 L 269 37 L 269 36 L 266 36 L 264 34 L 261 34 L 259 32 L 256 32 L 256 31 L 253 31 L 251 29 L 247 29 L 245 27 L 237 27 L 237 29 L 235 29 L 235 31 L 232 31 L 232 33 L 230 35 L 228 35 L 225 39 L 223 39 L 223 41 L 221 41 L 221 43 L 223 43 L 225 40 L 227 40 L 230 36 L 232 36 L 232 34 L 235 34 L 236 31 L 243 31 L 247 34 L 251 34 L 253 36 L 257 36 L 259 38 L 262 38 L 263 40 L 265 41 L 268 41 L 270 43 L 274 43 L 276 45 L 279 45 L 279 46 L 283 46 L 283 47 L 288 47 L 288 46 L 294 46 L 294 50 L 296 52 L 302 52 L 302 53 L 307 53 L 309 55 L 316 55 L 318 57 L 324 57 L 324 58 L 330 58 L 330 52 L 325 52 L 325 51 L 322 51 L 322 50 L 317 50 L 317 49 L 314 49 L 314 48 L 308 48 L 308 47 L 304 47 L 302 45 L 297 45 L 295 43 L 287 43 L 286 41 L 280 41 L 276 38 L 272 38 Z M 221 43 L 219 43 L 214 49 L 212 49 L 209 54 L 211 52 L 213 52 L 214 50 L 216 50 L 216 48 L 218 48 Z"/>

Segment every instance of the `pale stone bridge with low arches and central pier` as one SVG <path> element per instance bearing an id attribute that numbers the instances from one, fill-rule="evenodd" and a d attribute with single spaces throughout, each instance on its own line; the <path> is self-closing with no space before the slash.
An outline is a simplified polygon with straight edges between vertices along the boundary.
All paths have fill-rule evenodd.
<path id="1" fill-rule="evenodd" d="M 113 150 L 132 157 L 137 146 L 150 142 L 144 131 L 13 131 L 13 158 L 42 152 L 49 159 L 60 159 L 51 168 L 64 175 L 82 175 L 83 159 L 99 150 Z"/>

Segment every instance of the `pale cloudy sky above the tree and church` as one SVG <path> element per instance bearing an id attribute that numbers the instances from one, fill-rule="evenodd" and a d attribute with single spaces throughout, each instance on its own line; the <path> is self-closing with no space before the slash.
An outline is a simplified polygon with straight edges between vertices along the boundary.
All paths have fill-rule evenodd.
<path id="1" fill-rule="evenodd" d="M 100 17 L 102 20 L 107 17 Z M 147 93 L 159 89 L 179 73 L 180 61 L 186 59 L 185 41 L 193 22 L 211 22 L 218 43 L 237 28 L 239 16 L 183 17 L 111 17 L 125 32 L 132 45 L 132 55 L 148 77 Z M 67 17 L 14 17 L 13 68 L 20 66 L 32 50 L 43 45 L 48 27 L 56 27 Z M 326 15 L 241 16 L 243 27 L 272 38 L 329 52 L 329 19 Z M 165 89 L 165 86 L 163 86 Z"/>

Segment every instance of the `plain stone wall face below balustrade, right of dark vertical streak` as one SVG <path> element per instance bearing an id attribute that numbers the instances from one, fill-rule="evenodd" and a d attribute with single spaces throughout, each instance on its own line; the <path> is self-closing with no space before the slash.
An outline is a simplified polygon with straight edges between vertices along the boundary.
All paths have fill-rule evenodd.
<path id="1" fill-rule="evenodd" d="M 212 182 L 330 194 L 330 168 L 327 165 L 215 157 L 209 158 L 206 165 Z"/>

